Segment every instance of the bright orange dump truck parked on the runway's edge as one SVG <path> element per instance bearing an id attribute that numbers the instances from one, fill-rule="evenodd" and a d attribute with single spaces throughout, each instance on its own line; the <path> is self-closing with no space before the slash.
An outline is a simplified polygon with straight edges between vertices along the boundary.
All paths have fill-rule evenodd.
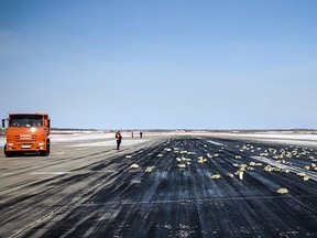
<path id="1" fill-rule="evenodd" d="M 9 113 L 9 118 L 2 119 L 2 128 L 6 128 L 3 151 L 7 158 L 28 152 L 50 154 L 51 119 L 47 113 Z"/>

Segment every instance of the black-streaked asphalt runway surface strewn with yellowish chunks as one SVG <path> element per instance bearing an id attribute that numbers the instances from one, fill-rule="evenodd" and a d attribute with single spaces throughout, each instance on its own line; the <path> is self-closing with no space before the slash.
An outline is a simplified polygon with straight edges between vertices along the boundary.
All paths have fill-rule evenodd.
<path id="1" fill-rule="evenodd" d="M 316 149 L 197 136 L 80 144 L 1 152 L 0 237 L 317 237 Z"/>

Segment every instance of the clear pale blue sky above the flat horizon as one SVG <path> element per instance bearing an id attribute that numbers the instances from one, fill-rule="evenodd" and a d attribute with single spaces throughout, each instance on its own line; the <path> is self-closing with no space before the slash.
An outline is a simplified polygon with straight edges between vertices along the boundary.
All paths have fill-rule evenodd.
<path id="1" fill-rule="evenodd" d="M 0 115 L 53 127 L 317 128 L 317 1 L 0 0 Z"/>

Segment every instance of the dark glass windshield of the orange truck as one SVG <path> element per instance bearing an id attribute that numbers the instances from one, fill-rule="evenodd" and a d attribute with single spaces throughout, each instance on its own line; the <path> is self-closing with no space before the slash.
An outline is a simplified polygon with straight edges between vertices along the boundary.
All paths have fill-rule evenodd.
<path id="1" fill-rule="evenodd" d="M 11 115 L 10 127 L 42 127 L 43 117 L 37 115 Z"/>

